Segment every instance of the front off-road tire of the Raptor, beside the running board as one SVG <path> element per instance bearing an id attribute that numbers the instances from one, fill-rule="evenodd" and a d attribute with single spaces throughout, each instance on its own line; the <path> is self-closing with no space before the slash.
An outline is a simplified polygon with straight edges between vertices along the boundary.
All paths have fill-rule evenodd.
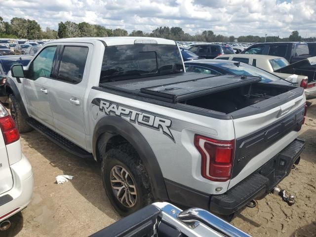
<path id="1" fill-rule="evenodd" d="M 20 133 L 30 132 L 33 130 L 33 128 L 26 122 L 26 118 L 23 116 L 20 104 L 13 94 L 9 95 L 9 109 Z"/>

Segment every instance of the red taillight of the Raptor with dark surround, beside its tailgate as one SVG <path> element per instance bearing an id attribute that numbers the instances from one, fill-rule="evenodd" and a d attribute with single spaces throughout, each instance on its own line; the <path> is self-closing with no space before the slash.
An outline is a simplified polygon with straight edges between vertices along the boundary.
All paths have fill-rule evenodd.
<path id="1" fill-rule="evenodd" d="M 194 145 L 201 154 L 201 174 L 204 178 L 225 182 L 231 178 L 235 140 L 215 140 L 195 135 Z"/>

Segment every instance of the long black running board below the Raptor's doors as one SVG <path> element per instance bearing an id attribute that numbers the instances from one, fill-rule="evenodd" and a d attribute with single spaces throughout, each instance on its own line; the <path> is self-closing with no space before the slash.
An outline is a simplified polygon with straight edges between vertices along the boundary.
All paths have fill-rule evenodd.
<path id="1" fill-rule="evenodd" d="M 82 157 L 82 158 L 93 158 L 91 153 L 83 150 L 75 143 L 69 141 L 68 139 L 64 138 L 63 136 L 59 135 L 58 133 L 54 132 L 50 128 L 46 127 L 45 125 L 41 124 L 34 118 L 28 118 L 27 123 L 33 127 L 35 130 L 39 131 L 42 135 L 47 137 L 52 142 L 56 143 L 58 146 L 65 149 L 67 152 L 74 154 L 75 156 Z"/>

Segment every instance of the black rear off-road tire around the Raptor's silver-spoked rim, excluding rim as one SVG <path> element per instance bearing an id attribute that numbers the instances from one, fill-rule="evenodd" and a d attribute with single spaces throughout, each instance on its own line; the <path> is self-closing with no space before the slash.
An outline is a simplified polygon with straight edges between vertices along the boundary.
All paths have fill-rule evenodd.
<path id="1" fill-rule="evenodd" d="M 134 182 L 136 201 L 132 207 L 124 206 L 112 189 L 111 170 L 115 166 L 120 166 L 127 170 Z M 127 216 L 152 203 L 153 195 L 149 175 L 137 152 L 131 145 L 122 144 L 110 149 L 102 158 L 101 175 L 106 194 L 119 215 Z"/>

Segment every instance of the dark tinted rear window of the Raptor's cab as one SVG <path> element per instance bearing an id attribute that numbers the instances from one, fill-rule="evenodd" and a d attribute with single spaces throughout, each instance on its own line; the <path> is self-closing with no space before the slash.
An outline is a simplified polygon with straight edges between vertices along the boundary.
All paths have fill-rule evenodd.
<path id="1" fill-rule="evenodd" d="M 128 44 L 104 50 L 100 83 L 183 72 L 177 45 Z"/>

